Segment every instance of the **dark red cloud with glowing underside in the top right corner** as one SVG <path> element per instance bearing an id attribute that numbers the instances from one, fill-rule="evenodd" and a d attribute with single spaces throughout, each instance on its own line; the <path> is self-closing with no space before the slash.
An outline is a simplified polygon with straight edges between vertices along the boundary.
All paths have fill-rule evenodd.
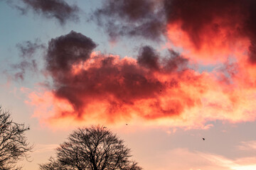
<path id="1" fill-rule="evenodd" d="M 220 60 L 245 44 L 247 60 L 254 63 L 255 1 L 165 1 L 169 38 L 194 55 Z M 175 34 L 183 36 L 177 38 Z M 209 56 L 209 57 L 210 57 Z M 223 61 L 223 60 L 222 60 Z"/>

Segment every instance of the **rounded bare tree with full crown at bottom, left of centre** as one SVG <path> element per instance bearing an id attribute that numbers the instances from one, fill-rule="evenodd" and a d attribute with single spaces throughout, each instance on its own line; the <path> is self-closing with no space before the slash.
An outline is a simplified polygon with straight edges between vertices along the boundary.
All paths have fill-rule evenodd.
<path id="1" fill-rule="evenodd" d="M 110 130 L 102 127 L 79 128 L 56 149 L 57 160 L 50 159 L 48 164 L 41 164 L 41 170 L 141 170 L 132 157 L 130 149 L 124 146 Z"/>

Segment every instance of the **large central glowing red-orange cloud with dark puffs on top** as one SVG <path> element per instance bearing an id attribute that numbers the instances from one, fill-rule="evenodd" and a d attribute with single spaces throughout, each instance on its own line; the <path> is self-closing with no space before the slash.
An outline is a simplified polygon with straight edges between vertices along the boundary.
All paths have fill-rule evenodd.
<path id="1" fill-rule="evenodd" d="M 96 46 L 75 31 L 48 42 L 45 69 L 53 83 L 29 95 L 34 116 L 55 126 L 141 121 L 205 128 L 208 120 L 255 120 L 255 89 L 247 84 L 253 68 L 244 69 L 246 62 L 226 64 L 227 75 L 223 69 L 200 73 L 174 50 L 161 56 L 144 46 L 134 59 L 96 52 Z"/>

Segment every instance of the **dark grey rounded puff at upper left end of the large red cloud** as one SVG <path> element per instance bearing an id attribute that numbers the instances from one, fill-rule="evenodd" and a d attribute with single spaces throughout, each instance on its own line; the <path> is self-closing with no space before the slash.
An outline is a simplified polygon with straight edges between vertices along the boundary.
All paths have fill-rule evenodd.
<path id="1" fill-rule="evenodd" d="M 73 64 L 87 60 L 96 46 L 90 38 L 72 30 L 67 35 L 50 40 L 46 67 L 53 75 L 68 73 Z"/>

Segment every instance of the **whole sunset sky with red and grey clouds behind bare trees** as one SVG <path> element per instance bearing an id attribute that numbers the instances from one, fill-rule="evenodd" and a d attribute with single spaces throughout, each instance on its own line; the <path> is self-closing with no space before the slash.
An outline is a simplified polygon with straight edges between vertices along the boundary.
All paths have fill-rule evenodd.
<path id="1" fill-rule="evenodd" d="M 256 169 L 255 8 L 0 0 L 0 105 L 34 145 L 19 165 L 38 169 L 73 130 L 104 125 L 146 170 Z"/>

